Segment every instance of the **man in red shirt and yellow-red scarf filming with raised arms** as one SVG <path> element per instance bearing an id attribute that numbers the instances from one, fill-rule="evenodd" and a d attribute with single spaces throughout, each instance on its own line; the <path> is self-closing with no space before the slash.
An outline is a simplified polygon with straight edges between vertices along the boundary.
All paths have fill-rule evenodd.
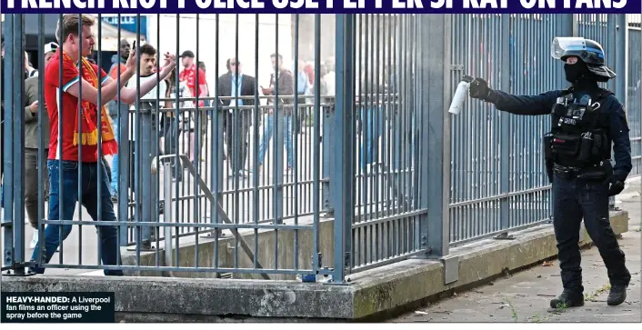
<path id="1" fill-rule="evenodd" d="M 89 63 L 85 58 L 91 55 L 95 44 L 91 31 L 94 24 L 95 19 L 91 15 L 64 15 L 56 29 L 56 37 L 62 47 L 58 48 L 45 67 L 45 104 L 50 125 L 47 161 L 50 186 L 49 220 L 72 220 L 77 202 L 85 206 L 87 213 L 95 221 L 115 222 L 116 220 L 114 205 L 109 194 L 109 178 L 103 163 L 99 162 L 98 148 L 101 148 L 103 155 L 114 155 L 117 152 L 118 145 L 104 106 L 115 98 L 117 83 L 105 71 Z M 81 35 L 78 35 L 79 25 L 82 25 Z M 60 66 L 60 57 L 62 57 L 62 66 Z M 135 51 L 131 52 L 125 66 L 125 72 L 120 75 L 123 85 L 135 74 Z M 169 65 L 161 74 L 160 80 L 165 79 L 172 69 L 174 66 Z M 102 85 L 100 105 L 98 105 L 98 84 Z M 141 84 L 141 95 L 148 93 L 155 85 L 155 80 L 145 82 L 145 85 Z M 79 97 L 82 98 L 82 115 L 78 114 Z M 135 102 L 135 88 L 123 88 L 121 98 L 126 103 Z M 99 108 L 100 116 L 98 116 Z M 62 127 L 60 132 L 59 125 Z M 101 136 L 100 145 L 98 135 Z M 59 180 L 60 177 L 62 177 L 61 180 Z M 102 179 L 100 183 L 96 181 L 98 177 Z M 100 199 L 98 198 L 99 189 Z M 101 206 L 100 215 L 98 205 Z M 48 263 L 61 243 L 59 233 L 62 232 L 64 240 L 71 230 L 72 225 L 47 225 L 45 246 L 42 248 L 43 241 L 38 240 L 32 260 L 37 260 L 38 264 Z M 117 265 L 119 246 L 116 226 L 98 226 L 98 233 L 102 264 Z M 41 255 L 42 252 L 45 255 Z M 35 267 L 31 271 L 42 274 L 45 269 Z M 105 275 L 123 275 L 123 271 L 105 269 Z"/>

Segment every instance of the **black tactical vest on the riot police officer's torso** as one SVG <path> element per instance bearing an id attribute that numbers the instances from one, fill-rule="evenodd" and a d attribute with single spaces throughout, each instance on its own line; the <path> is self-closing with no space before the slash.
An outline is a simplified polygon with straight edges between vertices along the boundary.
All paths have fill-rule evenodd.
<path id="1" fill-rule="evenodd" d="M 577 100 L 573 87 L 557 98 L 551 110 L 551 131 L 544 136 L 547 162 L 587 168 L 611 158 L 611 141 L 607 135 L 608 118 L 602 108 L 608 95 L 600 88 L 596 93 Z"/>

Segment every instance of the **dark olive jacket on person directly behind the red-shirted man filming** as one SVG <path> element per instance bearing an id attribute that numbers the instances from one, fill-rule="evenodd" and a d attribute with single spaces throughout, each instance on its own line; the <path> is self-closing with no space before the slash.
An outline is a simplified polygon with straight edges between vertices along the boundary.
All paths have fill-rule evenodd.
<path id="1" fill-rule="evenodd" d="M 38 77 L 33 76 L 25 80 L 25 148 L 37 148 L 38 140 L 38 115 L 43 117 L 43 140 L 45 149 L 49 148 L 49 114 L 43 99 L 43 113 L 33 114 L 29 105 L 38 100 Z"/>

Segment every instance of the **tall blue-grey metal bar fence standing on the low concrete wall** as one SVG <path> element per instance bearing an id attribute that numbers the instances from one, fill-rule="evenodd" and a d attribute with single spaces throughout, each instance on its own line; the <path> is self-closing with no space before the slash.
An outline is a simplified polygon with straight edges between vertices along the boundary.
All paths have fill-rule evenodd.
<path id="1" fill-rule="evenodd" d="M 58 79 L 45 77 L 45 43 L 54 41 L 45 22 L 56 19 L 38 15 L 31 46 L 40 73 L 35 84 L 25 82 L 19 69 L 30 46 L 23 44 L 25 16 L 5 15 L 2 30 L 12 45 L 2 73 L 3 271 L 326 275 L 342 282 L 351 273 L 412 256 L 446 256 L 449 246 L 509 238 L 508 231 L 547 222 L 541 136 L 548 116 L 509 115 L 472 99 L 458 116 L 445 109 L 463 75 L 517 95 L 564 88 L 562 65 L 549 55 L 558 35 L 595 38 L 618 77 L 627 73 L 628 85 L 617 80 L 609 88 L 621 99 L 627 94 L 632 175 L 640 173 L 640 33 L 629 25 L 628 55 L 617 51 L 623 15 L 148 15 L 147 35 L 141 26 L 128 33 L 98 15 L 94 35 L 82 27 L 75 32 L 85 34 L 81 45 L 95 40 L 98 68 L 109 71 L 106 54 L 126 61 L 126 48 L 117 45 L 124 38 L 135 41 L 136 62 L 150 63 L 143 40 L 155 47 L 156 62 L 138 68 L 151 69 L 151 79 L 133 75 L 125 89 L 126 65 L 115 65 L 115 83 L 79 88 L 78 95 L 97 89 L 98 99 L 88 103 L 119 91 L 120 104 L 98 111 L 118 105 L 112 120 L 118 153 L 104 157 L 98 148 L 93 162 L 78 165 L 83 150 L 92 150 L 82 145 L 62 167 L 45 165 L 48 128 L 69 138 L 68 121 L 80 131 L 79 109 L 94 108 L 75 98 L 74 111 L 51 125 L 42 115 L 56 102 L 44 91 L 64 99 L 68 91 L 52 86 L 73 81 L 58 72 Z M 88 49 L 84 55 L 92 57 Z M 165 75 L 166 52 L 178 64 L 162 79 L 155 73 Z M 55 61 L 65 67 L 62 57 Z M 206 70 L 190 74 L 199 62 Z M 236 67 L 240 82 L 233 79 Z M 165 89 L 146 92 L 148 80 Z M 240 91 L 233 94 L 235 85 Z M 33 100 L 37 118 L 23 115 Z M 47 191 L 45 183 L 55 188 Z M 66 204 L 52 206 L 61 200 Z M 53 259 L 29 255 L 27 218 L 55 228 L 40 230 L 39 242 L 45 236 L 64 242 Z M 326 218 L 334 219 L 329 232 L 322 229 Z M 265 233 L 273 238 L 259 242 Z M 187 245 L 193 255 L 177 252 Z M 87 252 L 94 246 L 97 253 Z M 54 245 L 46 248 L 54 254 Z M 232 261 L 224 263 L 229 250 Z M 105 254 L 127 255 L 126 265 Z"/>

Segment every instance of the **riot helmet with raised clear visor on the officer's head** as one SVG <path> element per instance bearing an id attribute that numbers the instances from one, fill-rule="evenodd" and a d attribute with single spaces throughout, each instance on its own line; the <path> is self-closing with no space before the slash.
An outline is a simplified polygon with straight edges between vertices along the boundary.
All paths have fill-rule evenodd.
<path id="1" fill-rule="evenodd" d="M 567 57 L 577 56 L 587 65 L 588 71 L 595 75 L 598 82 L 606 83 L 609 79 L 616 77 L 616 73 L 607 67 L 604 49 L 595 40 L 582 37 L 556 37 L 551 45 L 551 56 L 565 62 Z"/>

